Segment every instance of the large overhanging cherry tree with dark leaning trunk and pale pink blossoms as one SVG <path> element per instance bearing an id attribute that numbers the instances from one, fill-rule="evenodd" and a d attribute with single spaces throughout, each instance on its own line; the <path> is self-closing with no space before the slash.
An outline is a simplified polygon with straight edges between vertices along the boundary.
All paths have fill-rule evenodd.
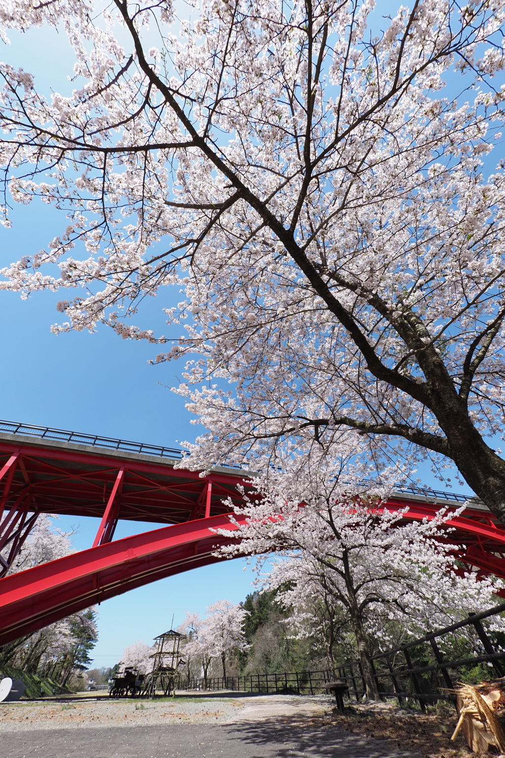
<path id="1" fill-rule="evenodd" d="M 5 223 L 11 199 L 68 217 L 2 287 L 78 288 L 57 333 L 104 322 L 175 337 L 158 361 L 196 352 L 177 391 L 210 431 L 190 465 L 279 465 L 287 438 L 330 456 L 347 438 L 372 459 L 403 446 L 453 462 L 505 522 L 488 439 L 503 432 L 504 183 L 488 154 L 505 7 L 373 8 L 201 0 L 179 21 L 170 0 L 4 3 L 5 35 L 67 33 L 76 89 L 48 101 L 2 64 Z M 168 285 L 185 289 L 170 339 L 127 320 Z"/>

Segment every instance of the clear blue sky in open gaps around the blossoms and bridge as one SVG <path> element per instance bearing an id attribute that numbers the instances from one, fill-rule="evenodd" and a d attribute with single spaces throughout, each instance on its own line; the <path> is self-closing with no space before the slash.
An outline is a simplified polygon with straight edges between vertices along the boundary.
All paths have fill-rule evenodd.
<path id="1" fill-rule="evenodd" d="M 11 34 L 2 45 L 0 59 L 36 73 L 43 92 L 64 94 L 72 84 L 67 72 L 73 56 L 64 35 L 55 30 Z M 0 227 L 0 268 L 45 248 L 64 228 L 64 214 L 42 203 L 15 206 L 11 229 Z M 170 392 L 182 365 L 148 365 L 156 347 L 121 340 L 106 327 L 96 334 L 63 334 L 49 327 L 61 318 L 55 304 L 65 293 L 37 293 L 22 302 L 15 293 L 0 293 L 2 353 L 0 365 L 0 418 L 93 432 L 148 443 L 176 446 L 192 440 L 198 428 L 189 423 L 183 401 Z M 140 326 L 164 323 L 162 309 L 176 301 L 165 292 L 145 302 Z M 429 471 L 426 484 L 437 486 Z M 440 486 L 440 485 L 438 485 Z M 467 490 L 466 490 L 467 491 Z M 98 519 L 62 517 L 58 526 L 75 531 L 77 549 L 90 547 Z M 146 528 L 150 528 L 146 525 Z M 115 537 L 135 534 L 139 525 L 119 525 Z M 182 622 L 185 610 L 203 613 L 206 606 L 225 598 L 243 600 L 251 591 L 251 569 L 245 560 L 196 569 L 132 590 L 108 600 L 99 608 L 99 641 L 95 665 L 111 666 L 127 644 L 150 642 L 173 623 Z"/>

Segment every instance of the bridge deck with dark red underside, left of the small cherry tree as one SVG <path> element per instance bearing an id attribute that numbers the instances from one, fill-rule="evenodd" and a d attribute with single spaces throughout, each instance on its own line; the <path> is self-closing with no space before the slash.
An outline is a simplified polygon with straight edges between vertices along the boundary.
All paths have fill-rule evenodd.
<path id="1" fill-rule="evenodd" d="M 20 459 L 2 504 L 8 508 L 25 494 L 30 497 L 30 509 L 42 513 L 101 518 L 117 472 L 124 466 L 117 518 L 179 524 L 198 518 L 208 481 L 213 484 L 210 515 L 218 515 L 229 510 L 223 505 L 224 499 L 231 497 L 238 502 L 236 485 L 246 475 L 251 476 L 237 468 L 222 467 L 201 478 L 198 471 L 174 468 L 182 456 L 170 459 L 0 432 L 0 470 L 16 452 Z"/>

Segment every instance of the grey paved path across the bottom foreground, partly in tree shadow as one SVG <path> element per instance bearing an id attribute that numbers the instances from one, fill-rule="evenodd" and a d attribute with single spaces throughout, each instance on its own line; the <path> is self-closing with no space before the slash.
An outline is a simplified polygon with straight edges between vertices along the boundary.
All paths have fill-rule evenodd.
<path id="1" fill-rule="evenodd" d="M 43 729 L 0 735 L 2 758 L 419 758 L 385 742 L 293 727 L 220 724 Z"/>

